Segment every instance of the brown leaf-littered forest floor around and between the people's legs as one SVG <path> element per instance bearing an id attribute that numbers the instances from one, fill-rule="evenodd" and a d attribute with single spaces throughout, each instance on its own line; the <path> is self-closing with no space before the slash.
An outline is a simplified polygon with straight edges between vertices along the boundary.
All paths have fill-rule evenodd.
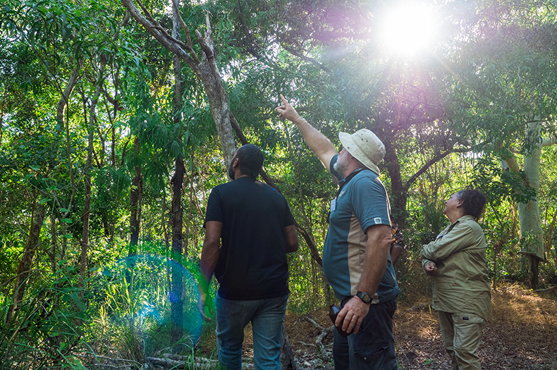
<path id="1" fill-rule="evenodd" d="M 557 370 L 557 288 L 534 292 L 519 285 L 491 290 L 491 309 L 479 347 L 482 369 Z M 298 369 L 333 369 L 328 307 L 308 314 L 287 314 L 286 330 Z M 319 328 L 321 327 L 321 328 Z M 330 329 L 329 329 L 330 331 Z M 393 318 L 401 370 L 451 370 L 439 322 L 428 297 L 399 302 Z M 245 331 L 245 363 L 252 357 L 251 329 Z"/>

